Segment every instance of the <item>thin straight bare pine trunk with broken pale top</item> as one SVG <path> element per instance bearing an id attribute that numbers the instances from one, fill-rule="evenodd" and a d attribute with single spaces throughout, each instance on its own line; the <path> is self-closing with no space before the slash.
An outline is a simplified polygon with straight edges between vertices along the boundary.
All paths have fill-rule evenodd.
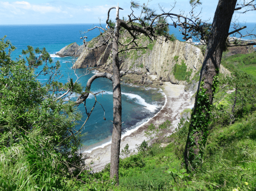
<path id="1" fill-rule="evenodd" d="M 119 168 L 119 154 L 121 142 L 121 85 L 120 85 L 120 69 L 118 59 L 118 38 L 120 30 L 120 22 L 118 19 L 119 9 L 116 10 L 115 32 L 112 45 L 113 54 L 113 134 L 111 145 L 111 162 L 110 162 L 110 178 L 115 178 L 118 185 L 118 168 Z"/>

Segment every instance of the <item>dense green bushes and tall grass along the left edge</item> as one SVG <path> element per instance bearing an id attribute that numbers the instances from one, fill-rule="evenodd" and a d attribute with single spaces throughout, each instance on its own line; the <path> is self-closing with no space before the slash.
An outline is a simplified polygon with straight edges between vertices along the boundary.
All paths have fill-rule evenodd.
<path id="1" fill-rule="evenodd" d="M 32 65 L 44 60 L 28 59 L 28 66 L 13 61 L 14 49 L 0 39 L 0 190 L 65 190 L 83 167 L 79 137 L 72 133 L 77 115 L 67 115 L 69 105 L 55 102 L 36 80 Z"/>

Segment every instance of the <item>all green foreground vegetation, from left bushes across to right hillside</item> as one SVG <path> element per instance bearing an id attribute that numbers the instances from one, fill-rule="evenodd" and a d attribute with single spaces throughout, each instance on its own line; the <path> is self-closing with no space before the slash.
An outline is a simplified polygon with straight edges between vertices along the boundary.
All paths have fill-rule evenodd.
<path id="1" fill-rule="evenodd" d="M 220 80 L 203 162 L 195 171 L 185 170 L 189 121 L 182 119 L 176 133 L 163 140 L 166 147 L 144 141 L 138 154 L 120 160 L 116 187 L 109 165 L 97 173 L 83 166 L 76 153 L 79 139 L 70 132 L 76 115 L 66 115 L 65 105 L 54 102 L 23 60 L 10 59 L 9 46 L 0 41 L 0 190 L 256 190 L 255 88 L 250 88 L 255 82 L 250 76 L 234 73 Z M 228 92 L 233 89 L 239 93 Z M 169 126 L 170 121 L 151 126 L 150 143 L 158 129 Z M 128 156 L 128 146 L 123 153 Z"/>

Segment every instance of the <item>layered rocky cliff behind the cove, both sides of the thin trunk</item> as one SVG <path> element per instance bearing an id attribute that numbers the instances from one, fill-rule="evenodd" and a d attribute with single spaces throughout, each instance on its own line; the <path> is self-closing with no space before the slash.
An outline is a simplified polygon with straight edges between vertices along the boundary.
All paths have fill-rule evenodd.
<path id="1" fill-rule="evenodd" d="M 142 41 L 138 41 L 138 44 Z M 89 43 L 94 43 L 97 46 L 99 41 L 95 38 Z M 158 39 L 148 47 L 148 49 L 138 51 L 134 49 L 119 54 L 120 69 L 122 71 L 130 70 L 128 73 L 151 73 L 157 75 L 157 80 L 183 85 L 191 83 L 199 75 L 198 71 L 202 67 L 203 54 L 200 48 L 195 45 L 178 40 L 164 41 Z M 73 67 L 83 68 L 89 65 L 89 67 L 97 66 L 112 70 L 111 51 L 111 42 L 92 51 L 86 50 L 76 60 Z M 220 66 L 220 73 L 230 75 L 230 72 L 222 65 Z M 195 84 L 194 87 L 196 86 Z"/>

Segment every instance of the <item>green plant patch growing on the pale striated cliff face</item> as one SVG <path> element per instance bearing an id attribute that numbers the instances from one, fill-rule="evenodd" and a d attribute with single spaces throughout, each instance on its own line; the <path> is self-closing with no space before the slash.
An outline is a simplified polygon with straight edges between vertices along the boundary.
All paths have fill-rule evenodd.
<path id="1" fill-rule="evenodd" d="M 174 57 L 174 60 L 177 60 L 177 58 L 178 57 Z M 181 60 L 181 65 L 177 63 L 174 65 L 172 73 L 174 74 L 174 77 L 177 80 L 185 81 L 185 80 L 189 80 L 189 77 L 191 76 L 191 73 L 192 73 L 192 69 L 187 72 L 187 66 L 184 63 L 184 60 Z"/>

